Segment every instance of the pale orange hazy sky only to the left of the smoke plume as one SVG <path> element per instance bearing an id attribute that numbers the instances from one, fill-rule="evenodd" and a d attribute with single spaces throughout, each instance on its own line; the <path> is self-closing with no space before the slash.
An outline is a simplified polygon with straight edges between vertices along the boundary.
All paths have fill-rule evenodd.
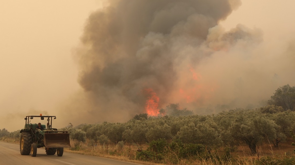
<path id="1" fill-rule="evenodd" d="M 71 51 L 99 6 L 99 1 L 0 2 L 0 111 L 12 120 L 1 119 L 0 129 L 21 129 L 25 115 L 57 115 L 59 102 L 79 89 Z"/>

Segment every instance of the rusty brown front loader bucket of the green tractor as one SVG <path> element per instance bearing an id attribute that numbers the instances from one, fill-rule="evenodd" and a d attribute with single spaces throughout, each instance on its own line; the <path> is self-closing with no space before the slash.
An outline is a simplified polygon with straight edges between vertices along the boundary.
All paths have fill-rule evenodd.
<path id="1" fill-rule="evenodd" d="M 45 133 L 44 145 L 46 148 L 71 147 L 68 133 Z"/>

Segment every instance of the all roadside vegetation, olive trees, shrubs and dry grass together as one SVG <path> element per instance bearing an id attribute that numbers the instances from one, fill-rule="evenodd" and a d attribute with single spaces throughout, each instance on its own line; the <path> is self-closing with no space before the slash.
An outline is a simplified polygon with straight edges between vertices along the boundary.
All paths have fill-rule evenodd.
<path id="1" fill-rule="evenodd" d="M 70 123 L 68 151 L 164 164 L 291 164 L 295 161 L 295 87 L 285 85 L 258 109 L 191 115 L 170 104 L 171 115 L 136 115 L 125 123 Z M 291 131 L 291 133 L 290 133 Z M 16 139 L 19 131 L 0 131 Z"/>

